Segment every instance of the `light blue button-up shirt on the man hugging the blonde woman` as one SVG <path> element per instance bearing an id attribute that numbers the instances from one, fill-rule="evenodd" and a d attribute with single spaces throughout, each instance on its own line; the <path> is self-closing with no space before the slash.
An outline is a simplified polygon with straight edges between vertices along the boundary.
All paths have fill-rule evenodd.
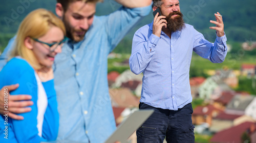
<path id="1" fill-rule="evenodd" d="M 99 143 L 116 129 L 107 56 L 150 11 L 151 6 L 121 7 L 110 15 L 95 16 L 84 40 L 63 45 L 53 65 L 60 118 L 58 140 Z"/>

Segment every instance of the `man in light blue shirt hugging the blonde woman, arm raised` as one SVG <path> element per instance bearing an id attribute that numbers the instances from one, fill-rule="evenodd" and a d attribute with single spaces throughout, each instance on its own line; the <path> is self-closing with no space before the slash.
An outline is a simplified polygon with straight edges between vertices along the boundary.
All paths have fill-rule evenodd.
<path id="1" fill-rule="evenodd" d="M 108 89 L 107 56 L 133 25 L 151 11 L 152 0 L 116 0 L 122 7 L 105 16 L 94 15 L 97 2 L 57 0 L 56 14 L 65 23 L 69 38 L 53 65 L 60 142 L 103 142 L 116 129 Z M 13 39 L 0 57 L 0 70 L 7 62 Z M 10 92 L 17 87 L 10 85 L 0 91 L 2 114 L 4 89 Z M 29 99 L 28 95 L 9 96 L 8 116 L 22 119 L 14 113 L 29 111 L 26 106 L 33 103 L 19 101 Z"/>

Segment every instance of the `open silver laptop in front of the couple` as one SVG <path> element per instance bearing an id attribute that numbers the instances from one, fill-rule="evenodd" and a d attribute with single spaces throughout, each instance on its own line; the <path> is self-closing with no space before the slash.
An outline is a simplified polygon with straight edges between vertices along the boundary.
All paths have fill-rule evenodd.
<path id="1" fill-rule="evenodd" d="M 136 131 L 153 112 L 154 110 L 147 109 L 134 111 L 117 127 L 115 132 L 104 143 L 113 143 L 115 141 L 126 142 L 134 131 Z"/>

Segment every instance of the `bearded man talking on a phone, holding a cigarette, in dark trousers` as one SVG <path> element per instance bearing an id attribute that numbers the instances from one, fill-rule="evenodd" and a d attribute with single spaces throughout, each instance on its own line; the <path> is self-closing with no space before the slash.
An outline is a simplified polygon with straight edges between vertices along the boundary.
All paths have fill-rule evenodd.
<path id="1" fill-rule="evenodd" d="M 224 24 L 220 13 L 215 43 L 204 39 L 193 26 L 185 24 L 178 0 L 153 0 L 160 8 L 152 23 L 134 35 L 130 68 L 143 72 L 140 109 L 154 109 L 153 115 L 137 130 L 137 142 L 195 142 L 191 114 L 189 67 L 195 51 L 212 63 L 222 63 L 227 54 Z"/>

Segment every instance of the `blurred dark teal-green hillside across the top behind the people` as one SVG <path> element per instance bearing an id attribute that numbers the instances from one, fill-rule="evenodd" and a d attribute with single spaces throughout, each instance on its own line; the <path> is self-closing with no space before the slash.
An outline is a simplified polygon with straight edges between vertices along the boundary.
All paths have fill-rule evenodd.
<path id="1" fill-rule="evenodd" d="M 14 35 L 20 21 L 32 10 L 46 8 L 55 11 L 54 0 L 12 0 L 2 1 L 0 5 L 0 35 Z M 109 14 L 119 8 L 113 0 L 105 0 L 97 5 L 96 15 Z M 196 30 L 203 33 L 205 38 L 214 42 L 216 36 L 209 26 L 213 26 L 209 20 L 215 20 L 214 13 L 220 12 L 224 19 L 224 30 L 228 41 L 244 42 L 256 40 L 256 1 L 245 0 L 180 0 L 181 12 L 186 23 L 194 25 Z M 141 20 L 133 30 L 125 37 L 131 41 L 133 34 L 139 27 L 152 22 L 153 15 L 150 13 Z M 0 37 L 0 38 L 1 38 Z M 124 41 L 125 41 L 124 40 Z M 0 40 L 2 41 L 2 40 Z M 5 43 L 0 43 L 5 45 Z"/>

